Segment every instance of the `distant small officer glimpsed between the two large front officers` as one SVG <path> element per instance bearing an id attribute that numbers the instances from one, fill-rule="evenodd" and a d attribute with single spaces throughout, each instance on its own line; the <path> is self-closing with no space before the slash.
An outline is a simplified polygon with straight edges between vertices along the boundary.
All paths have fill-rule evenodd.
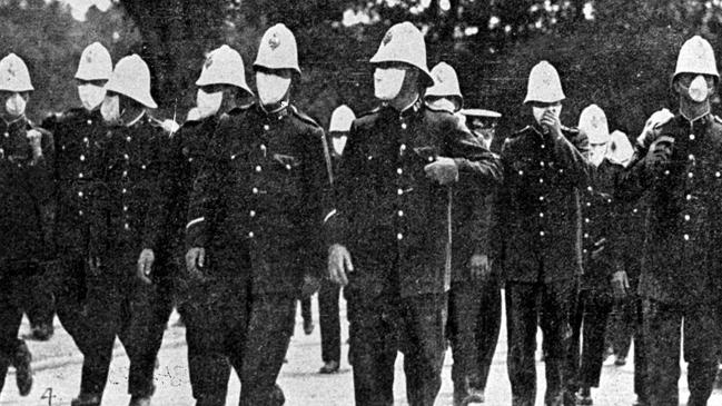
<path id="1" fill-rule="evenodd" d="M 330 156 L 333 172 L 338 171 L 344 148 L 348 141 L 348 131 L 356 119 L 354 110 L 346 105 L 338 106 L 330 116 L 328 137 L 330 138 Z M 340 320 L 338 316 L 338 295 L 340 287 L 328 278 L 322 280 L 318 291 L 318 319 L 320 324 L 320 348 L 324 365 L 319 374 L 338 372 L 340 363 Z M 350 350 L 349 350 L 350 351 Z"/>

